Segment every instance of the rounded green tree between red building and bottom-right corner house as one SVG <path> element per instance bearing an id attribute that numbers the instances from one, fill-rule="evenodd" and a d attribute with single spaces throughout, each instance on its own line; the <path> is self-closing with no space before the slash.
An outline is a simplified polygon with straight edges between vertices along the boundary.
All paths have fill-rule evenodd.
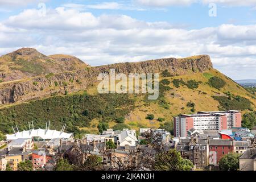
<path id="1" fill-rule="evenodd" d="M 219 162 L 220 169 L 223 171 L 237 171 L 239 169 L 240 154 L 230 153 L 222 156 Z"/>

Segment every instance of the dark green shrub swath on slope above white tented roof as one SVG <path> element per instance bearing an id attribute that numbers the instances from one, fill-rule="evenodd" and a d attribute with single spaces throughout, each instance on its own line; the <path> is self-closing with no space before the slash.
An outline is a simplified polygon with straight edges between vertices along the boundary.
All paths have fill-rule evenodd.
<path id="1" fill-rule="evenodd" d="M 34 121 L 36 128 L 44 128 L 46 121 L 51 121 L 53 130 L 61 130 L 67 124 L 66 132 L 76 131 L 79 134 L 77 127 L 90 127 L 90 121 L 95 118 L 105 122 L 114 121 L 133 109 L 134 100 L 128 94 L 49 97 L 0 109 L 0 131 L 3 134 L 12 133 L 11 127 L 15 125 L 19 130 L 28 130 L 28 121 Z"/>

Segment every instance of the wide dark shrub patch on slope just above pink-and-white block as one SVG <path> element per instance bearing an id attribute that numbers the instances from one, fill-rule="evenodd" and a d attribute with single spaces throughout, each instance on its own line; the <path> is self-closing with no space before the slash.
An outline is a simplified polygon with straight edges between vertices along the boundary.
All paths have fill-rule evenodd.
<path id="1" fill-rule="evenodd" d="M 251 102 L 245 97 L 236 96 L 236 97 L 225 97 L 225 96 L 212 96 L 214 100 L 217 100 L 220 103 L 220 106 L 224 110 L 247 110 L 251 109 Z"/>

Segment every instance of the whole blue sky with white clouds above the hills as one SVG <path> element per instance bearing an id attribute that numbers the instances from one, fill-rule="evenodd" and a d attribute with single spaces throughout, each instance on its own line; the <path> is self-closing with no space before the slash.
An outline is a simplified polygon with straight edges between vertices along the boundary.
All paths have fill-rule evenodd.
<path id="1" fill-rule="evenodd" d="M 0 55 L 22 47 L 92 66 L 206 54 L 256 79 L 256 0 L 0 0 Z"/>

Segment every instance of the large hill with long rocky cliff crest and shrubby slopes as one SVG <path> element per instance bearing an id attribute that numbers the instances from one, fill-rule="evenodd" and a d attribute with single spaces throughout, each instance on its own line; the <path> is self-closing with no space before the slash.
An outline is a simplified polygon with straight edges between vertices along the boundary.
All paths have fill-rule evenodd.
<path id="1" fill-rule="evenodd" d="M 98 94 L 98 73 L 160 73 L 159 98 L 145 94 Z M 0 130 L 28 129 L 27 122 L 79 134 L 97 133 L 98 123 L 115 128 L 163 127 L 172 131 L 172 117 L 199 110 L 255 110 L 255 96 L 216 69 L 207 55 L 119 63 L 27 78 L 0 84 Z M 150 115 L 150 117 L 148 117 Z M 102 124 L 103 125 L 103 124 Z M 102 127 L 99 125 L 99 127 Z"/>

